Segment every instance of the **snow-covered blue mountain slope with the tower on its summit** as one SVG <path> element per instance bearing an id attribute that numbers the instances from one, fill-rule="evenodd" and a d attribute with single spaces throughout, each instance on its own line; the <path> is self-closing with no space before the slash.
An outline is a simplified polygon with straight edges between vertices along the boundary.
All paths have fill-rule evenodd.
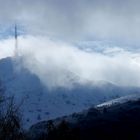
<path id="1" fill-rule="evenodd" d="M 14 96 L 17 105 L 21 105 L 25 128 L 39 121 L 82 111 L 110 99 L 140 93 L 140 88 L 120 87 L 106 81 L 99 81 L 99 85 L 75 83 L 72 89 L 59 87 L 49 90 L 37 75 L 22 65 L 22 60 L 10 57 L 0 60 L 0 81 L 5 96 Z"/>

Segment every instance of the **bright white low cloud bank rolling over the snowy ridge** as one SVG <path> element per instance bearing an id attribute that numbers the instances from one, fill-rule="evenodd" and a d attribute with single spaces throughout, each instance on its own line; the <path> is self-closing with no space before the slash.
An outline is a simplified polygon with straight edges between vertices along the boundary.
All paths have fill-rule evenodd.
<path id="1" fill-rule="evenodd" d="M 0 47 L 0 57 L 13 55 L 10 41 L 4 41 L 7 44 L 5 48 Z M 92 49 L 87 49 L 87 46 L 81 49 L 48 37 L 26 36 L 19 38 L 18 51 L 24 66 L 49 88 L 71 88 L 74 83 L 95 84 L 100 81 L 120 86 L 140 86 L 139 52 L 116 46 L 105 47 L 100 52 L 93 49 L 97 45 L 99 47 L 100 43 L 93 42 Z"/>

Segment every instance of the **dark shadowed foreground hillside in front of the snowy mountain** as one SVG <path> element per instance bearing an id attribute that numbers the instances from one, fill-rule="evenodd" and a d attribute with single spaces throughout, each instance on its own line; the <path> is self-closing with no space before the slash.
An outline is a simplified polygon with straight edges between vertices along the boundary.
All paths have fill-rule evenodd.
<path id="1" fill-rule="evenodd" d="M 29 129 L 29 140 L 139 140 L 140 96 L 131 97 L 37 123 Z"/>

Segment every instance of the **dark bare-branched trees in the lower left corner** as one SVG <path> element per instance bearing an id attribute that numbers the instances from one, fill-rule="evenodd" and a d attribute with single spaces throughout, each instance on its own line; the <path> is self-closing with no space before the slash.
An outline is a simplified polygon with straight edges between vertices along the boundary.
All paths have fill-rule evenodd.
<path id="1" fill-rule="evenodd" d="M 0 140 L 24 140 L 20 109 L 14 97 L 5 97 L 5 89 L 0 81 Z"/>

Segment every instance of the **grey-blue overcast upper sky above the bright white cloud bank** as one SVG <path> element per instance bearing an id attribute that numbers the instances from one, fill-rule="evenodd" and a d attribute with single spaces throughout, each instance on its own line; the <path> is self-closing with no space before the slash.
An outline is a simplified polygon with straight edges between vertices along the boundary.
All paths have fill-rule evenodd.
<path id="1" fill-rule="evenodd" d="M 62 40 L 140 43 L 139 0 L 0 0 L 0 21 Z"/>

